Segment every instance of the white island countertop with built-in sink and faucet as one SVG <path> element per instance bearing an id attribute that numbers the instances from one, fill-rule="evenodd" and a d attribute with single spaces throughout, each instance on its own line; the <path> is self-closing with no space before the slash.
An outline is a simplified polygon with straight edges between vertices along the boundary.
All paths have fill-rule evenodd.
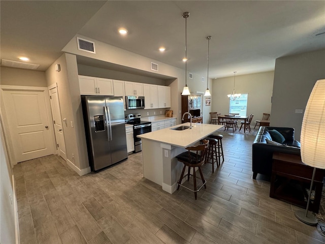
<path id="1" fill-rule="evenodd" d="M 185 148 L 200 141 L 201 139 L 207 137 L 208 135 L 216 132 L 218 129 L 223 127 L 222 125 L 192 123 L 192 129 L 186 129 L 183 131 L 171 130 L 171 128 L 189 125 L 190 123 L 184 123 L 163 130 L 145 133 L 139 135 L 138 137 Z"/>

